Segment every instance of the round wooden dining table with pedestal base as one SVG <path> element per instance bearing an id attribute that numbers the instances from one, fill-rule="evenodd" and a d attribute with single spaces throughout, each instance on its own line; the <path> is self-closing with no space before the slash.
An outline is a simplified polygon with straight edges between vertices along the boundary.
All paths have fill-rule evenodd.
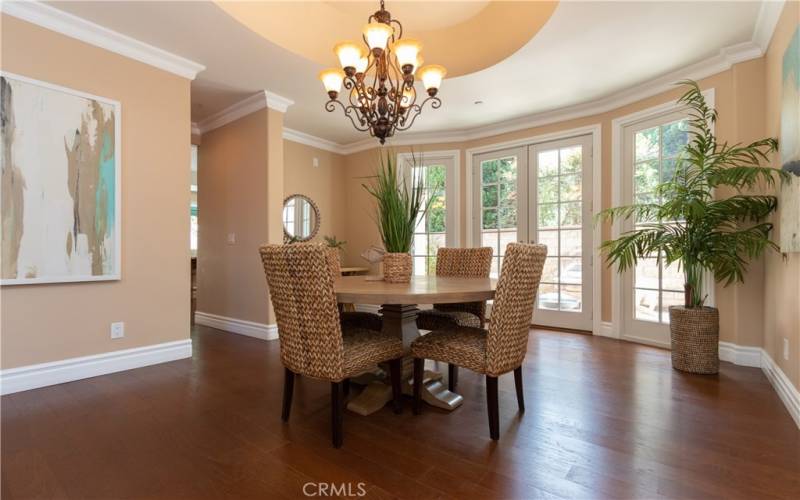
<path id="1" fill-rule="evenodd" d="M 424 304 L 454 304 L 480 302 L 494 298 L 497 280 L 492 278 L 454 278 L 412 276 L 409 283 L 387 283 L 374 276 L 343 276 L 336 280 L 336 299 L 345 304 L 379 305 L 383 316 L 383 331 L 403 340 L 409 349 L 420 336 L 417 328 L 419 306 Z M 412 391 L 412 358 L 403 363 L 403 392 Z M 380 410 L 391 400 L 391 388 L 382 377 L 369 383 L 347 408 L 361 415 Z M 428 404 L 453 410 L 463 397 L 449 391 L 442 383 L 442 374 L 425 371 L 422 399 Z"/>

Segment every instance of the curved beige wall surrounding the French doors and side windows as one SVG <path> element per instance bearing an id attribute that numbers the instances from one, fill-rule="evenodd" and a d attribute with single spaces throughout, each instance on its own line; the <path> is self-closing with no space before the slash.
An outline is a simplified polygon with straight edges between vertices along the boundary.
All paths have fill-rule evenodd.
<path id="1" fill-rule="evenodd" d="M 735 65 L 730 70 L 713 75 L 701 80 L 700 85 L 703 89 L 715 89 L 715 105 L 720 113 L 717 122 L 716 132 L 720 140 L 727 140 L 731 143 L 745 141 L 748 139 L 763 136 L 763 88 L 764 88 L 764 60 L 755 59 Z M 602 207 L 611 206 L 611 122 L 615 118 L 626 116 L 643 109 L 647 109 L 666 102 L 675 101 L 681 95 L 680 89 L 637 101 L 635 103 L 622 106 L 612 111 L 554 123 L 541 127 L 535 127 L 507 134 L 486 137 L 468 142 L 445 143 L 445 144 L 426 144 L 422 146 L 399 147 L 396 151 L 414 151 L 424 153 L 425 151 L 453 150 L 461 151 L 461 179 L 465 179 L 467 168 L 465 161 L 465 150 L 481 146 L 488 146 L 527 137 L 539 136 L 559 131 L 571 130 L 587 125 L 600 124 L 602 126 Z M 371 219 L 373 210 L 372 201 L 369 195 L 361 187 L 362 179 L 359 177 L 372 175 L 378 158 L 379 149 L 371 149 L 353 153 L 345 158 L 347 170 L 347 210 L 348 210 L 348 229 L 347 240 L 350 242 L 347 249 L 346 259 L 353 261 L 358 259 L 358 254 L 367 246 L 380 244 L 375 224 Z M 461 184 L 461 244 L 467 244 L 466 224 L 466 183 Z M 609 226 L 602 228 L 602 237 L 610 237 Z M 611 278 L 612 271 L 604 268 L 602 273 L 602 319 L 611 321 Z M 755 262 L 751 273 L 747 276 L 744 285 L 734 285 L 728 288 L 717 286 L 716 297 L 717 305 L 723 311 L 722 315 L 721 338 L 722 340 L 736 342 L 743 345 L 762 344 L 763 327 L 761 318 L 763 310 L 759 297 L 763 291 L 763 263 Z M 753 307 L 752 303 L 756 306 Z M 747 306 L 747 307 L 744 307 Z"/>

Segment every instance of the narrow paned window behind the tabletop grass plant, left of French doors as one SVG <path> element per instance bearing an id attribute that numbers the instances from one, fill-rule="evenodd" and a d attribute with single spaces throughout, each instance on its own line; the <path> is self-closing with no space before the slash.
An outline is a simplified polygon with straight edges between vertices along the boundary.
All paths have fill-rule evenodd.
<path id="1" fill-rule="evenodd" d="M 416 276 L 436 274 L 436 253 L 439 248 L 458 245 L 457 222 L 457 158 L 458 152 L 398 155 L 398 164 L 410 185 L 422 179 L 423 200 L 431 200 L 424 216 L 417 219 L 411 245 L 413 272 Z M 453 207 L 452 209 L 448 209 Z"/>

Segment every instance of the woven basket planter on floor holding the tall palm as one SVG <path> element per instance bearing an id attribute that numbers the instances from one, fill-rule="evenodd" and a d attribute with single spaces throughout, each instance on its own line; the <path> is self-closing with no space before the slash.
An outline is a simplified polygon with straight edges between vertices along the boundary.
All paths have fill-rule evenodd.
<path id="1" fill-rule="evenodd" d="M 672 367 L 689 373 L 719 372 L 719 310 L 669 308 Z"/>

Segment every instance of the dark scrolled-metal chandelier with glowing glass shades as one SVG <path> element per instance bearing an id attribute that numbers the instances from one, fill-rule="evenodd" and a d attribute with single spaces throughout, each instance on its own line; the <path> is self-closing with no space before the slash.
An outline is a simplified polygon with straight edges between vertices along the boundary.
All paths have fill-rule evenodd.
<path id="1" fill-rule="evenodd" d="M 384 8 L 367 19 L 363 41 L 368 50 L 355 42 L 336 44 L 333 51 L 342 69 L 326 69 L 319 77 L 330 100 L 325 109 L 341 107 L 353 126 L 369 131 L 383 144 L 396 130 L 408 130 L 422 112 L 425 103 L 437 109 L 442 101 L 436 96 L 446 73 L 443 66 L 422 66 L 422 44 L 403 38 L 403 25 Z M 414 72 L 422 80 L 427 96 L 417 103 Z M 339 100 L 342 85 L 345 102 Z"/>

